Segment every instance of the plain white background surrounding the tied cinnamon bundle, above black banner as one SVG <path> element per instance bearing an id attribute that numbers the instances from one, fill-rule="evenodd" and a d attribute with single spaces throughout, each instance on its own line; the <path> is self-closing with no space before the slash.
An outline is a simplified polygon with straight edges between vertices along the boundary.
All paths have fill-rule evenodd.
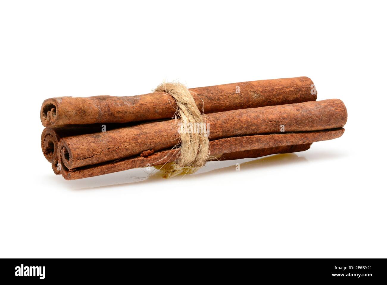
<path id="1" fill-rule="evenodd" d="M 2 1 L 0 257 L 387 257 L 385 28 L 372 1 Z M 341 138 L 170 180 L 41 153 L 46 98 L 296 76 L 344 101 Z"/>

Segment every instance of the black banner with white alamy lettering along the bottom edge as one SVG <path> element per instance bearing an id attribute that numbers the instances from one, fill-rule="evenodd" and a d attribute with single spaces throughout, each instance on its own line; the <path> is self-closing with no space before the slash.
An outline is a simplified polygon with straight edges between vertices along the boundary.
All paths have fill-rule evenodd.
<path id="1" fill-rule="evenodd" d="M 128 259 L 2 259 L 1 277 L 7 281 L 118 281 L 131 276 L 158 276 L 161 280 L 202 281 L 203 276 L 211 279 L 247 278 L 276 281 L 328 281 L 332 282 L 384 282 L 386 280 L 385 259 L 258 259 L 258 263 L 247 261 L 247 266 L 238 266 L 235 261 L 212 262 L 212 265 L 196 265 L 180 261 L 182 264 L 167 268 L 156 265 L 150 267 L 142 261 Z M 186 263 L 186 264 L 185 264 Z M 239 263 L 239 261 L 238 261 Z M 168 278 L 166 278 L 168 276 Z"/>

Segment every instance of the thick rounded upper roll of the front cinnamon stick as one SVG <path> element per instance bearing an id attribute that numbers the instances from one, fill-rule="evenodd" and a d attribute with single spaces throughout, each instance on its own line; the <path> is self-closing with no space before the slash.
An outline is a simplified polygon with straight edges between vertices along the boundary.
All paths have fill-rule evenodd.
<path id="1" fill-rule="evenodd" d="M 210 126 L 210 140 L 216 140 L 281 131 L 341 128 L 346 123 L 347 111 L 341 100 L 330 99 L 212 113 L 205 115 L 205 119 Z M 161 121 L 65 137 L 58 144 L 58 155 L 68 169 L 73 169 L 139 155 L 146 150 L 169 149 L 178 144 L 179 138 L 175 120 Z"/>

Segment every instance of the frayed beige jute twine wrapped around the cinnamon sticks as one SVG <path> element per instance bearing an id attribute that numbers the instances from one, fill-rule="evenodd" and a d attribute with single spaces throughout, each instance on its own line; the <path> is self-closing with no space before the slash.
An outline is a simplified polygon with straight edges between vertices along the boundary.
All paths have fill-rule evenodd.
<path id="1" fill-rule="evenodd" d="M 181 83 L 161 83 L 154 92 L 170 94 L 177 104 L 176 120 L 180 120 L 180 154 L 175 162 L 165 164 L 161 168 L 164 178 L 177 175 L 191 174 L 204 166 L 209 157 L 209 141 L 206 134 L 189 132 L 186 126 L 205 123 L 204 116 L 200 113 L 187 87 Z"/>

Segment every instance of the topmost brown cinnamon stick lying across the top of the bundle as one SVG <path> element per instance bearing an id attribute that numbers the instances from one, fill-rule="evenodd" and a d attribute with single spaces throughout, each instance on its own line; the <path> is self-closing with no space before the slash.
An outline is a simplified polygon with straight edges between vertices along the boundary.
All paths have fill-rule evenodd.
<path id="1" fill-rule="evenodd" d="M 236 109 L 314 101 L 317 92 L 308 77 L 269 79 L 189 89 L 205 114 Z M 239 92 L 239 93 L 238 93 Z M 137 96 L 57 97 L 43 102 L 43 126 L 127 123 L 173 117 L 175 100 L 165 92 Z"/>

